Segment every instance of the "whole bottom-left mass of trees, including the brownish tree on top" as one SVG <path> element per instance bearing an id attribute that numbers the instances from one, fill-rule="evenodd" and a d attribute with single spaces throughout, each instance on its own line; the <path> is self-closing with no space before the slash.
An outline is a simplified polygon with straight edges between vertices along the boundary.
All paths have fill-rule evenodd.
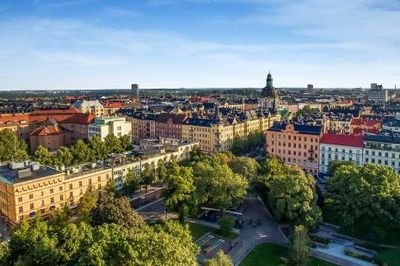
<path id="1" fill-rule="evenodd" d="M 87 192 L 91 193 L 91 192 Z M 89 196 L 91 197 L 91 196 Z M 90 202 L 82 217 L 82 205 Z M 127 203 L 107 191 L 95 206 L 81 202 L 76 223 L 69 223 L 66 209 L 50 222 L 22 222 L 0 246 L 2 265 L 197 265 L 198 247 L 187 226 L 168 221 L 144 223 Z M 89 208 L 90 209 L 90 208 Z"/>

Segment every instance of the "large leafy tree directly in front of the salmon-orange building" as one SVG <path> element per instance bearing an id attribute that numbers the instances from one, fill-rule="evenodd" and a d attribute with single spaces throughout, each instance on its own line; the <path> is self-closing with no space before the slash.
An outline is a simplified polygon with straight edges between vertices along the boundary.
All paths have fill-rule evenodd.
<path id="1" fill-rule="evenodd" d="M 298 166 L 267 160 L 264 174 L 257 177 L 256 189 L 279 221 L 314 227 L 321 219 L 315 180 Z"/>

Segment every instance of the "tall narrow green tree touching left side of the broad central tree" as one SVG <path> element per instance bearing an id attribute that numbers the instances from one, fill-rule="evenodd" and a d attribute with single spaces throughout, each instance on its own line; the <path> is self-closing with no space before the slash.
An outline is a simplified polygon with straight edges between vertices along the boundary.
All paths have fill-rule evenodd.
<path id="1" fill-rule="evenodd" d="M 164 207 L 178 213 L 179 219 L 184 221 L 193 210 L 193 171 L 190 167 L 175 166 L 166 176 L 167 186 L 164 192 Z"/>

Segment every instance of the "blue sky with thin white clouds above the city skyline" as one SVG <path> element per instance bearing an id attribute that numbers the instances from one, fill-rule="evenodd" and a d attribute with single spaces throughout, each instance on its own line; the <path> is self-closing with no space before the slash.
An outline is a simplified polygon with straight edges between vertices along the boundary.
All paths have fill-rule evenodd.
<path id="1" fill-rule="evenodd" d="M 0 0 L 0 90 L 400 86 L 400 0 Z"/>

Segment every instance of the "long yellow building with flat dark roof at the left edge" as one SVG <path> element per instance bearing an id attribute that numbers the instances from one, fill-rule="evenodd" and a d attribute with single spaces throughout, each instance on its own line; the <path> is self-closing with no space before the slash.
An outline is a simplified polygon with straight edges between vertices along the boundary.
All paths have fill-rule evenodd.
<path id="1" fill-rule="evenodd" d="M 46 217 L 65 205 L 75 207 L 87 189 L 98 191 L 111 178 L 111 169 L 91 164 L 66 173 L 34 162 L 2 165 L 0 211 L 10 224 Z"/>

